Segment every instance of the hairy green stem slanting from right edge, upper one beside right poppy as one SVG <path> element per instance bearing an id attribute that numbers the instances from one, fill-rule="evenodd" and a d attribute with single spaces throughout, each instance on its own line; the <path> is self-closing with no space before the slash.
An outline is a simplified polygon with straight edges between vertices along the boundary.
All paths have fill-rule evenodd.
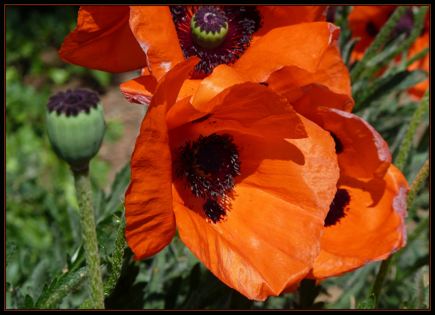
<path id="1" fill-rule="evenodd" d="M 408 158 L 409 151 L 411 150 L 412 139 L 418 124 L 422 121 L 423 115 L 429 110 L 429 89 L 423 96 L 422 101 L 415 110 L 414 116 L 412 116 L 411 123 L 408 126 L 405 137 L 403 138 L 402 145 L 400 146 L 399 153 L 394 162 L 394 165 L 401 171 L 405 167 L 406 159 Z"/>

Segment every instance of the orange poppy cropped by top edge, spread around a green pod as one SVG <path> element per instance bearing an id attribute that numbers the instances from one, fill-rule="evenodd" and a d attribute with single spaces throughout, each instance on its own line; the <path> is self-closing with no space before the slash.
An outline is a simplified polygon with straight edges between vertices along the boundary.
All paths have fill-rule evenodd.
<path id="1" fill-rule="evenodd" d="M 80 7 L 77 28 L 59 54 L 72 64 L 109 72 L 145 67 L 142 77 L 122 84 L 121 90 L 129 101 L 149 104 L 161 77 L 193 55 L 201 61 L 185 81 L 181 98 L 184 91 L 194 94 L 200 79 L 219 64 L 255 83 L 283 67 L 315 72 L 339 36 L 338 27 L 322 22 L 325 8 L 221 7 L 229 23 L 227 37 L 219 47 L 205 49 L 191 36 L 198 7 Z"/>

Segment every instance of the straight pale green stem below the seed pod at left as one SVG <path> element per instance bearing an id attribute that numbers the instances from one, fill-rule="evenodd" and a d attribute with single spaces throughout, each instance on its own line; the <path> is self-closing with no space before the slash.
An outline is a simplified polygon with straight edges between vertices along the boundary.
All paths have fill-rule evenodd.
<path id="1" fill-rule="evenodd" d="M 103 309 L 103 280 L 101 279 L 100 255 L 98 254 L 89 168 L 84 171 L 73 171 L 73 173 L 80 210 L 80 223 L 90 287 L 90 302 L 93 308 Z"/>

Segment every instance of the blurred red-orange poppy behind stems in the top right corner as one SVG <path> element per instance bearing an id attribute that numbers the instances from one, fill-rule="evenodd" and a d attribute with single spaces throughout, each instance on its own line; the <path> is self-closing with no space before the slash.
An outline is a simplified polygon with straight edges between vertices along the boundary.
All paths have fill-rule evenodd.
<path id="1" fill-rule="evenodd" d="M 349 13 L 348 21 L 349 29 L 352 30 L 352 38 L 361 38 L 361 40 L 356 43 L 352 52 L 351 62 L 361 60 L 365 54 L 365 50 L 373 42 L 379 30 L 381 30 L 395 9 L 396 6 L 355 6 L 351 13 Z M 411 29 L 413 22 L 412 11 L 408 10 L 391 33 L 391 36 L 397 36 L 398 34 Z M 430 10 L 428 10 L 428 13 L 426 14 L 425 27 L 422 34 L 408 48 L 408 59 L 429 46 L 429 31 Z M 408 67 L 409 71 L 416 69 L 425 70 L 429 73 L 429 54 L 426 54 L 425 57 L 415 61 Z M 419 101 L 428 87 L 429 77 L 408 89 L 408 94 L 414 101 Z"/>

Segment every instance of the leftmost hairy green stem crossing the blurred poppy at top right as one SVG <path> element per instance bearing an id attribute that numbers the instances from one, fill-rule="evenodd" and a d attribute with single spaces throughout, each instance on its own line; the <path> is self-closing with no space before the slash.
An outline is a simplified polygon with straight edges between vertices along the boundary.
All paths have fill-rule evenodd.
<path id="1" fill-rule="evenodd" d="M 376 35 L 375 40 L 371 43 L 370 47 L 368 47 L 367 52 L 364 54 L 364 57 L 355 65 L 355 68 L 351 71 L 351 82 L 355 83 L 356 80 L 360 77 L 362 71 L 365 69 L 365 64 L 368 60 L 375 56 L 378 52 L 379 48 L 382 47 L 388 40 L 388 36 L 391 34 L 391 31 L 394 29 L 398 21 L 403 17 L 406 10 L 408 10 L 408 6 L 399 6 L 397 9 L 391 14 L 391 17 L 385 23 L 384 27 L 382 27 L 381 31 Z"/>

